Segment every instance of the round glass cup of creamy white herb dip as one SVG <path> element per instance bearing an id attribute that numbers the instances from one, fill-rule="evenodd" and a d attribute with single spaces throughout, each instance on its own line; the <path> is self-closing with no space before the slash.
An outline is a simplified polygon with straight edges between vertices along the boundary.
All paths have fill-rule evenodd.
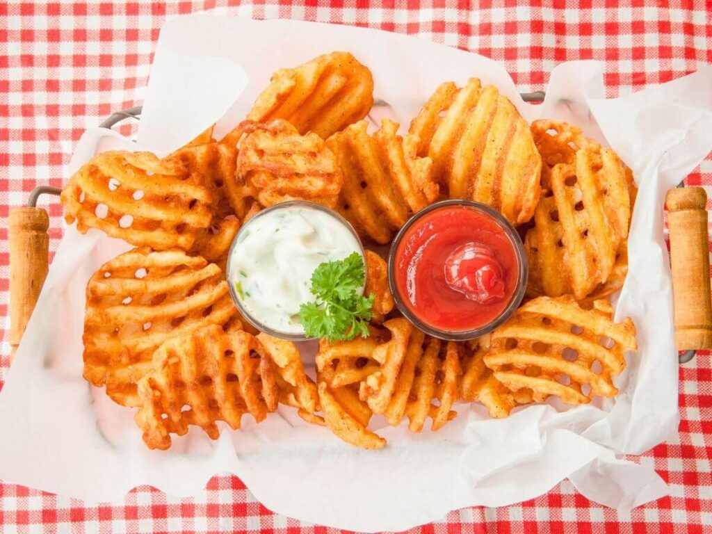
<path id="1" fill-rule="evenodd" d="M 314 302 L 314 270 L 363 246 L 339 214 L 308 201 L 263 209 L 241 227 L 230 247 L 227 279 L 240 313 L 275 337 L 304 340 L 300 305 Z M 364 260 L 365 261 L 365 260 Z"/>

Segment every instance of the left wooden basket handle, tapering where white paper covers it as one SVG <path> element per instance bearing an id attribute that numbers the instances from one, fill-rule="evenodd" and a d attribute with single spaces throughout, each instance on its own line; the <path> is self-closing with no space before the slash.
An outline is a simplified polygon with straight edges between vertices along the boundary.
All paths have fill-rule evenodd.
<path id="1" fill-rule="evenodd" d="M 35 308 L 49 265 L 49 217 L 42 208 L 10 212 L 10 361 Z"/>

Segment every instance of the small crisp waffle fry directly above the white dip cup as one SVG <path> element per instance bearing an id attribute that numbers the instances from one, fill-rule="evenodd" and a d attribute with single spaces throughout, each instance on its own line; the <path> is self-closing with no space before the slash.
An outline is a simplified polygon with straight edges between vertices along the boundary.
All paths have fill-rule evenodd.
<path id="1" fill-rule="evenodd" d="M 263 207 L 287 200 L 336 205 L 341 172 L 318 135 L 299 135 L 286 120 L 244 123 L 243 130 L 236 176 L 244 206 L 248 199 Z"/>

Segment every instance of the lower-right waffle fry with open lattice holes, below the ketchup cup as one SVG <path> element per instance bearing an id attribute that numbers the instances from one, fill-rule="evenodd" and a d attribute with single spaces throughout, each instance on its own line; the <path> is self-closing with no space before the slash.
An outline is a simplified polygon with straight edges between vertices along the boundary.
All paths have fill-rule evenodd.
<path id="1" fill-rule="evenodd" d="M 571 296 L 530 300 L 491 334 L 484 363 L 518 392 L 518 401 L 543 402 L 553 395 L 566 404 L 585 404 L 597 395 L 613 397 L 613 377 L 637 344 L 632 320 L 612 318 L 607 300 L 596 300 L 591 310 Z"/>

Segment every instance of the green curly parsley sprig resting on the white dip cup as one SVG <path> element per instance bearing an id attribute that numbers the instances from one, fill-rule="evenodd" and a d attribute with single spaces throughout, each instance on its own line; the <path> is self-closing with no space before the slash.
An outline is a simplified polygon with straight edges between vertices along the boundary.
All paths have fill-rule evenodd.
<path id="1" fill-rule="evenodd" d="M 317 300 L 302 304 L 299 309 L 306 335 L 329 341 L 368 337 L 374 295 L 364 297 L 357 293 L 365 279 L 363 258 L 357 252 L 315 268 L 310 291 Z"/>

